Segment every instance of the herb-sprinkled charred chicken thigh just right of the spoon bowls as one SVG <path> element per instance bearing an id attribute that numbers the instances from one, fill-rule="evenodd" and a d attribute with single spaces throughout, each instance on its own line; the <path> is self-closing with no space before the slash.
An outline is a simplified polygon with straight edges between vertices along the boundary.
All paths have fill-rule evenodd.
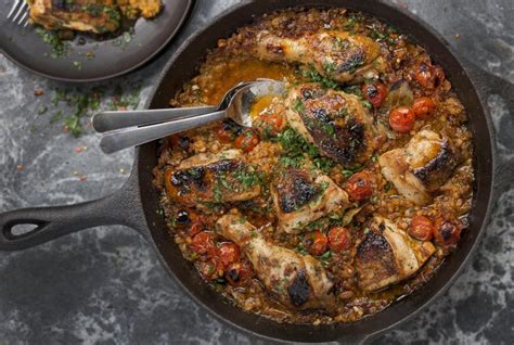
<path id="1" fill-rule="evenodd" d="M 378 144 L 373 116 L 354 94 L 304 84 L 290 89 L 285 105 L 290 126 L 342 165 L 367 162 Z"/>

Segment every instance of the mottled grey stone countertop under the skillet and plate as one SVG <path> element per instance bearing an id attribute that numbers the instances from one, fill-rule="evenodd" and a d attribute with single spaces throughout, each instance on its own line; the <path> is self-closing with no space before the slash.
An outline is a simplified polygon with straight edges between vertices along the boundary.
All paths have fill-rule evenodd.
<path id="1" fill-rule="evenodd" d="M 107 89 L 102 106 L 112 100 L 110 90 L 121 88 L 121 98 L 130 98 L 134 86 L 141 88 L 141 106 L 178 43 L 236 2 L 198 0 L 165 53 L 142 69 L 101 84 Z M 514 81 L 512 0 L 396 2 L 433 25 L 460 54 Z M 77 94 L 91 87 L 47 80 L 0 55 L 0 212 L 93 200 L 126 180 L 131 151 L 103 155 L 90 129 L 75 139 L 53 117 L 64 106 L 52 103 L 56 89 Z M 35 97 L 36 89 L 44 94 Z M 488 104 L 497 130 L 509 131 L 499 142 L 499 155 L 512 157 L 513 115 L 498 95 L 491 94 Z M 499 194 L 487 233 L 452 288 L 374 343 L 512 344 L 513 208 L 511 184 Z M 0 344 L 262 343 L 201 309 L 169 279 L 143 239 L 124 227 L 100 227 L 24 252 L 0 253 Z"/>

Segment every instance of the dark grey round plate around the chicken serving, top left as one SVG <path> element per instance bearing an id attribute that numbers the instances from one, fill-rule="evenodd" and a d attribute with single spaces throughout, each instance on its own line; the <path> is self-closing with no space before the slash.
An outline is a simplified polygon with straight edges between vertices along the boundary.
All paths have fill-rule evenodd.
<path id="1" fill-rule="evenodd" d="M 67 53 L 55 58 L 35 27 L 7 20 L 13 1 L 0 0 L 0 51 L 34 73 L 76 82 L 104 80 L 143 65 L 174 38 L 193 4 L 193 0 L 163 0 L 163 11 L 153 20 L 138 20 L 132 33 L 102 40 L 78 34 L 65 47 Z"/>

